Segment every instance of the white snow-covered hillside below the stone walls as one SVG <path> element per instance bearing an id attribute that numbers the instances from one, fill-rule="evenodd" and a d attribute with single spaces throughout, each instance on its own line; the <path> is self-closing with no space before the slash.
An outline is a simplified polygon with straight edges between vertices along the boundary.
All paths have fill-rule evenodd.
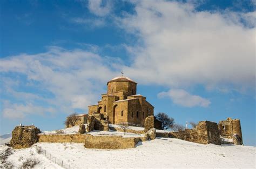
<path id="1" fill-rule="evenodd" d="M 24 158 L 37 158 L 36 168 L 62 168 L 38 154 L 41 146 L 51 157 L 79 168 L 255 168 L 256 147 L 203 145 L 173 138 L 157 138 L 126 150 L 93 150 L 75 143 L 37 143 L 15 150 L 7 161 L 20 166 Z M 0 151 L 5 145 L 0 146 Z M 31 151 L 33 151 L 31 155 Z M 23 157 L 23 158 L 22 158 Z M 22 158 L 22 160 L 21 160 Z M 77 168 L 77 167 L 76 167 Z"/>

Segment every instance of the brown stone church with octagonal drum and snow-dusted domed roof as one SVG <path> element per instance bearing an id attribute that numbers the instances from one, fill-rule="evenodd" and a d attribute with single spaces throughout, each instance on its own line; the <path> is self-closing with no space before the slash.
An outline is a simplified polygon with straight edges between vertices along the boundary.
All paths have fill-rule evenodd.
<path id="1" fill-rule="evenodd" d="M 89 115 L 103 114 L 110 124 L 127 123 L 144 126 L 147 116 L 152 116 L 154 107 L 146 97 L 137 94 L 137 83 L 132 79 L 119 76 L 107 82 L 107 93 L 97 105 L 89 106 Z"/>

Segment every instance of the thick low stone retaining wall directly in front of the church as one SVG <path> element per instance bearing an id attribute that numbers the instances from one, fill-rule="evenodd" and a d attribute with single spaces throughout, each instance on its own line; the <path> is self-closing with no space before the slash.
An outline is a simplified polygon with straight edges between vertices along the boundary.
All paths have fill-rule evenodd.
<path id="1" fill-rule="evenodd" d="M 138 139 L 126 138 L 122 136 L 91 136 L 86 134 L 85 148 L 99 148 L 99 149 L 125 149 L 134 148 Z"/>

